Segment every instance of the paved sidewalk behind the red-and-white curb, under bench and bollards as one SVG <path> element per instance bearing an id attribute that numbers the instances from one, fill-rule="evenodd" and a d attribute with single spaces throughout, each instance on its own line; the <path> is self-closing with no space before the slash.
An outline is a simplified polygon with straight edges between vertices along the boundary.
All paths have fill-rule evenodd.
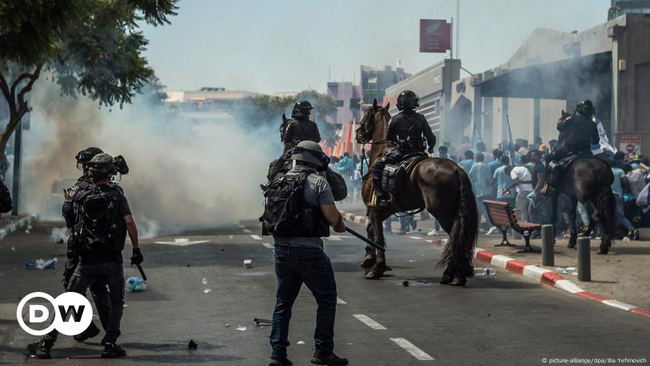
<path id="1" fill-rule="evenodd" d="M 344 207 L 346 219 L 364 224 L 365 209 L 358 206 L 346 205 Z M 433 220 L 420 220 L 416 214 L 418 228 L 408 233 L 414 239 L 447 239 L 447 235 L 427 237 L 427 232 L 433 228 Z M 399 223 L 393 222 L 393 230 L 399 228 Z M 577 251 L 566 247 L 568 239 L 558 238 L 555 244 L 555 266 L 541 266 L 541 252 L 517 253 L 523 249 L 523 238 L 514 239 L 508 236 L 511 244 L 516 246 L 494 246 L 501 243 L 501 232 L 498 230 L 489 237 L 479 235 L 477 248 L 488 250 L 496 255 L 504 255 L 517 261 L 526 262 L 534 266 L 553 271 L 564 277 L 564 280 L 573 282 L 580 288 L 606 299 L 615 299 L 619 302 L 631 304 L 634 307 L 650 309 L 650 241 L 613 241 L 613 246 L 608 255 L 597 255 L 600 240 L 591 241 L 591 282 L 577 280 Z M 390 236 L 387 242 L 390 244 Z M 541 250 L 541 239 L 531 239 L 533 248 Z M 485 262 L 476 261 L 476 267 L 490 267 Z"/>

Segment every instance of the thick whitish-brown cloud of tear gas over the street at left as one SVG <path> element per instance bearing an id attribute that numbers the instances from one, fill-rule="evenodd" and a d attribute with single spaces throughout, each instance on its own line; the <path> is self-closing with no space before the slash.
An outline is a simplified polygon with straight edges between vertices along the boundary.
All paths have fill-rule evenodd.
<path id="1" fill-rule="evenodd" d="M 59 95 L 39 81 L 32 92 L 31 130 L 24 134 L 21 208 L 60 218 L 61 197 L 53 182 L 77 179 L 75 155 L 97 146 L 122 155 L 130 172 L 120 185 L 143 236 L 215 226 L 261 213 L 259 183 L 281 152 L 278 123 L 246 130 L 236 122 L 192 125 L 170 120 L 163 107 L 144 98 L 124 109 L 99 109 L 97 102 Z M 280 118 L 280 116 L 278 116 Z M 145 219 L 146 218 L 146 219 Z"/>

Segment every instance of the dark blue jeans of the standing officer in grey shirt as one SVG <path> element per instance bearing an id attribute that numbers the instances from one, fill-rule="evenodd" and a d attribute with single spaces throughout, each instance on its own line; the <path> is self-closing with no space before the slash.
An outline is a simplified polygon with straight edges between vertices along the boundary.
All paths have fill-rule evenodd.
<path id="1" fill-rule="evenodd" d="M 277 300 L 270 337 L 271 358 L 287 357 L 291 308 L 303 283 L 318 304 L 314 332 L 316 349 L 322 354 L 331 354 L 334 349 L 336 282 L 329 257 L 317 248 L 276 246 L 275 275 Z"/>

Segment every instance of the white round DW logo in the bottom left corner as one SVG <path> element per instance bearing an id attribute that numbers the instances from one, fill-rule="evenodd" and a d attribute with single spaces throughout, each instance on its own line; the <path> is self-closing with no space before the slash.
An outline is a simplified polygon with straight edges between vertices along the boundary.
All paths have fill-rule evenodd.
<path id="1" fill-rule="evenodd" d="M 33 298 L 44 298 L 48 300 L 54 308 L 54 321 L 49 327 L 42 330 L 35 330 L 28 327 L 23 319 L 23 308 L 29 300 Z M 42 323 L 48 320 L 50 316 L 49 310 L 44 305 L 30 304 L 29 305 L 29 322 Z M 76 336 L 84 331 L 93 320 L 93 308 L 91 303 L 85 296 L 75 292 L 66 292 L 58 295 L 57 298 L 42 293 L 32 292 L 20 300 L 18 309 L 16 310 L 16 318 L 20 327 L 30 333 L 32 336 L 43 336 L 53 329 L 57 329 L 59 333 L 66 336 Z"/>

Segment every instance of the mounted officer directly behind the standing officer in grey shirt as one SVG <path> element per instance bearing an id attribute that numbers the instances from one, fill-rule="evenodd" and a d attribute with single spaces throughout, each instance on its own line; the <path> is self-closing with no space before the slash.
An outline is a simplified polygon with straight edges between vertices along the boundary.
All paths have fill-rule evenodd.
<path id="1" fill-rule="evenodd" d="M 295 147 L 297 143 L 304 140 L 319 143 L 320 133 L 316 122 L 310 120 L 311 111 L 314 109 L 310 102 L 299 100 L 291 112 L 291 119 L 281 127 L 280 137 L 284 144 L 284 154 L 274 161 L 269 169 L 267 178 L 273 179 L 285 167 L 290 159 L 289 150 Z"/>

